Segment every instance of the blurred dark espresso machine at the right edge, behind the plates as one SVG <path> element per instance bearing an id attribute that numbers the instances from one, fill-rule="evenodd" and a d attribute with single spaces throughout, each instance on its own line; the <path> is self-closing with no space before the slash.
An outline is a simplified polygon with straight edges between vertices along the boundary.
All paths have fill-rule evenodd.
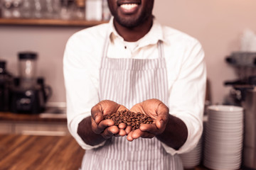
<path id="1" fill-rule="evenodd" d="M 244 108 L 242 169 L 256 169 L 256 52 L 233 52 L 226 62 L 239 77 L 225 81 L 225 86 L 232 86 L 230 103 Z"/>

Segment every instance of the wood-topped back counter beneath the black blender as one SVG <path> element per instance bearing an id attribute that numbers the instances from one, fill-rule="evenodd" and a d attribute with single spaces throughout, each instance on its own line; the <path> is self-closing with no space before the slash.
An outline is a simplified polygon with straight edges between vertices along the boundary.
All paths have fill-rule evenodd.
<path id="1" fill-rule="evenodd" d="M 0 112 L 0 134 L 68 135 L 65 114 Z"/>

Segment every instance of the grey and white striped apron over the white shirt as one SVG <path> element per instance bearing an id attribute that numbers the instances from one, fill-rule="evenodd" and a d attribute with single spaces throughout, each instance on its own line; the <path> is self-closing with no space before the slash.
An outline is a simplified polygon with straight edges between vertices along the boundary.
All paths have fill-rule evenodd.
<path id="1" fill-rule="evenodd" d="M 100 67 L 100 101 L 111 100 L 132 108 L 149 98 L 167 103 L 166 62 L 162 42 L 159 57 L 153 60 L 114 59 L 107 57 L 106 40 Z M 171 156 L 156 139 L 112 137 L 103 147 L 87 150 L 83 170 L 179 170 L 183 169 L 178 154 Z"/>

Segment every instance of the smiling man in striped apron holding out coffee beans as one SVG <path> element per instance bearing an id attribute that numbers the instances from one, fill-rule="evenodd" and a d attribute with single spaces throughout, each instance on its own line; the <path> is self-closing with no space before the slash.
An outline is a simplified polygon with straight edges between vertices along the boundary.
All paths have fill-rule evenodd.
<path id="1" fill-rule="evenodd" d="M 202 133 L 206 67 L 200 43 L 161 26 L 154 0 L 108 0 L 110 23 L 75 33 L 66 45 L 68 128 L 86 149 L 82 169 L 183 169 L 178 154 Z M 132 130 L 103 115 L 142 112 Z"/>

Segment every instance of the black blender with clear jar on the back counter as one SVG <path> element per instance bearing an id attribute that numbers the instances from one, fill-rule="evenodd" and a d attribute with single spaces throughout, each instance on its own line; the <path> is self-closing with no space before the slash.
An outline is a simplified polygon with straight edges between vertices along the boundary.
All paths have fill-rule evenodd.
<path id="1" fill-rule="evenodd" d="M 11 112 L 42 113 L 46 109 L 46 101 L 51 96 L 50 86 L 44 84 L 43 78 L 36 77 L 36 52 L 18 53 L 19 77 L 11 87 Z"/>

